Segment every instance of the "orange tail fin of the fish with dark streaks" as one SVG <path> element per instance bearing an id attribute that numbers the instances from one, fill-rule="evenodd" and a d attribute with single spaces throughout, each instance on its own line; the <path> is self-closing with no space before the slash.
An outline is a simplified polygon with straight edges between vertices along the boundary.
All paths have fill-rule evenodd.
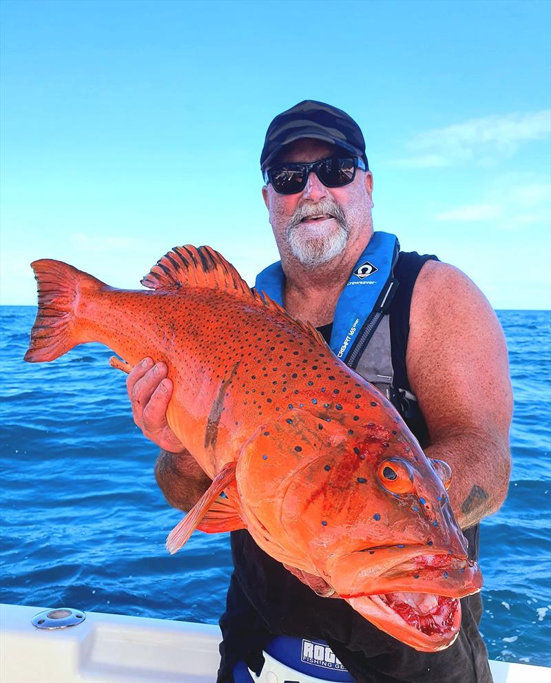
<path id="1" fill-rule="evenodd" d="M 62 261 L 41 259 L 31 266 L 38 283 L 39 309 L 25 361 L 53 361 L 88 341 L 77 324 L 76 304 L 85 290 L 97 291 L 105 285 Z"/>

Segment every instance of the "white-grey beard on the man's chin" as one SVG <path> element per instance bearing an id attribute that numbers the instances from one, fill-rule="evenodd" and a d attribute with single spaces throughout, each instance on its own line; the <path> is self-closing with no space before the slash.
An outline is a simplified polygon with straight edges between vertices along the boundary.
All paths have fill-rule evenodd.
<path id="1" fill-rule="evenodd" d="M 344 250 L 348 233 L 340 222 L 328 233 L 327 228 L 315 224 L 308 227 L 298 224 L 289 227 L 287 239 L 295 258 L 306 268 L 314 269 L 333 260 Z"/>

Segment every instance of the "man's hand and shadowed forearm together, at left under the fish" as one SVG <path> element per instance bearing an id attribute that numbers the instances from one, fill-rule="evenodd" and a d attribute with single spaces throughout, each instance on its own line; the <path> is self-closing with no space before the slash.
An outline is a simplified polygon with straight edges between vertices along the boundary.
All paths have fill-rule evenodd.
<path id="1" fill-rule="evenodd" d="M 158 486 L 169 505 L 187 512 L 211 485 L 211 480 L 167 423 L 173 389 L 167 378 L 167 366 L 145 358 L 129 373 L 126 386 L 136 425 L 147 439 L 161 448 L 155 463 Z"/>

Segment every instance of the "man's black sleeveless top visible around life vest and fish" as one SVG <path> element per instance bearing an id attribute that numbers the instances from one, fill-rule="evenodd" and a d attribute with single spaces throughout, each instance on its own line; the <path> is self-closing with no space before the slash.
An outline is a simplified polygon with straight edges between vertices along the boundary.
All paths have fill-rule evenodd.
<path id="1" fill-rule="evenodd" d="M 435 256 L 400 253 L 399 282 L 389 311 L 395 386 L 410 390 L 406 370 L 409 312 L 413 286 L 422 266 Z M 329 338 L 331 325 L 320 328 Z M 424 421 L 408 424 L 422 445 L 428 444 Z M 469 554 L 478 556 L 478 529 L 468 529 Z M 461 631 L 455 643 L 437 653 L 423 653 L 383 633 L 344 600 L 318 597 L 281 563 L 256 545 L 249 532 L 231 533 L 234 571 L 220 619 L 223 642 L 218 683 L 232 683 L 240 660 L 252 670 L 262 665 L 262 649 L 274 635 L 326 640 L 358 683 L 491 683 L 488 654 L 478 631 L 480 594 L 461 600 Z"/>

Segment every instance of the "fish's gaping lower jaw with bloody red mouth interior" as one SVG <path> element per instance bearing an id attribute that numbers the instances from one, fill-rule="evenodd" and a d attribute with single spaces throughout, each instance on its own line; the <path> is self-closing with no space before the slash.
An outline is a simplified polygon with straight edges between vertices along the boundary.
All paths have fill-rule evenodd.
<path id="1" fill-rule="evenodd" d="M 459 598 L 402 592 L 350 597 L 346 601 L 375 626 L 419 651 L 445 649 L 459 635 Z"/>

